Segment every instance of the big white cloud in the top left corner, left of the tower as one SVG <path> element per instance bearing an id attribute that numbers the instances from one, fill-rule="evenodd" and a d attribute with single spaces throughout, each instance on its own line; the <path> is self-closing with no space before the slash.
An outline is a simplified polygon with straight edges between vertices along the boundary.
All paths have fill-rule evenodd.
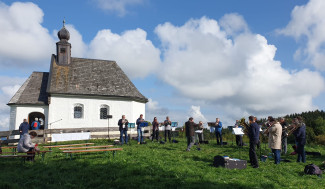
<path id="1" fill-rule="evenodd" d="M 0 66 L 47 66 L 54 40 L 44 28 L 43 11 L 33 3 L 0 2 Z M 51 45 L 52 44 L 52 45 Z M 42 65 L 46 62 L 46 65 Z"/>

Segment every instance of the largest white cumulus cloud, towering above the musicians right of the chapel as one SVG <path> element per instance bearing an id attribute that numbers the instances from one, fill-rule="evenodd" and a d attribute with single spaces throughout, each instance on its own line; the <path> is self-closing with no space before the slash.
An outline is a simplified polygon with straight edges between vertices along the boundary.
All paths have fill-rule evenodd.
<path id="1" fill-rule="evenodd" d="M 274 60 L 276 47 L 249 32 L 241 16 L 221 20 L 223 27 L 234 27 L 222 29 L 206 17 L 157 26 L 164 47 L 161 79 L 188 98 L 222 105 L 229 114 L 233 108 L 264 116 L 315 108 L 312 98 L 324 90 L 318 72 L 283 69 Z"/>

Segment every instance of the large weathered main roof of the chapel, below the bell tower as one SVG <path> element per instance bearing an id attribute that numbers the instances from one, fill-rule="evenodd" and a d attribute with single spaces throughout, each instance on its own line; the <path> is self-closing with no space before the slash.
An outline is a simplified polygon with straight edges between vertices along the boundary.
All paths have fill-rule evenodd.
<path id="1" fill-rule="evenodd" d="M 50 94 L 98 95 L 148 102 L 115 61 L 71 58 L 58 65 L 52 55 L 47 92 Z"/>

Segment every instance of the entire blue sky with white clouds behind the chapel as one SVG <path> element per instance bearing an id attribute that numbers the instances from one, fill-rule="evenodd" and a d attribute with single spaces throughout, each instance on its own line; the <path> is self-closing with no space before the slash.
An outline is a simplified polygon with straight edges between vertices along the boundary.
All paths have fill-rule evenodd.
<path id="1" fill-rule="evenodd" d="M 0 0 L 0 128 L 65 18 L 73 57 L 115 60 L 146 119 L 183 123 L 325 109 L 322 0 Z"/>

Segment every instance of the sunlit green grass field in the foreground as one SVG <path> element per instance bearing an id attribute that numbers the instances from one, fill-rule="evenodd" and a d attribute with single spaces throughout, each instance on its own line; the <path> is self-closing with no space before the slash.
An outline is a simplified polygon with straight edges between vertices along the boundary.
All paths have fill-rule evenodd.
<path id="1" fill-rule="evenodd" d="M 74 155 L 70 160 L 53 149 L 44 161 L 23 163 L 20 159 L 1 159 L 0 188 L 324 188 L 324 178 L 304 175 L 305 165 L 321 165 L 325 158 L 307 156 L 306 163 L 296 163 L 296 156 L 282 156 L 291 162 L 274 165 L 273 159 L 259 162 L 260 168 L 248 166 L 230 170 L 212 166 L 213 157 L 228 155 L 248 160 L 248 146 L 241 151 L 232 141 L 228 145 L 196 146 L 186 152 L 184 138 L 179 143 L 123 145 L 123 151 Z M 84 141 L 81 141 L 84 142 Z M 96 145 L 107 140 L 91 140 Z M 66 142 L 71 143 L 71 142 Z M 63 143 L 64 144 L 64 143 Z M 111 143 L 110 143 L 111 144 Z M 270 150 L 262 144 L 262 154 Z M 325 154 L 324 146 L 306 146 L 307 151 Z M 292 149 L 289 147 L 289 153 Z M 258 151 L 259 155 L 259 151 Z"/>

